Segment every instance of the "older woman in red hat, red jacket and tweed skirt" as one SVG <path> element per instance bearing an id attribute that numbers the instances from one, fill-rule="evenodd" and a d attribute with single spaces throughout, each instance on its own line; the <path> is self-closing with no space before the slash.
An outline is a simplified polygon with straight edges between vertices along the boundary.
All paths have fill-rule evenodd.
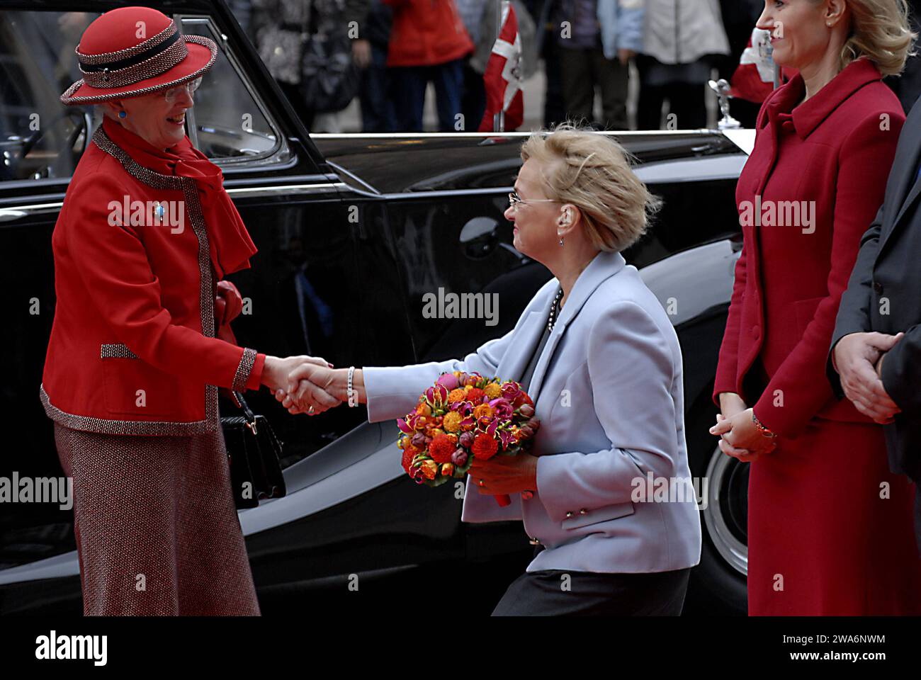
<path id="1" fill-rule="evenodd" d="M 258 615 L 218 388 L 277 389 L 309 357 L 236 345 L 256 248 L 221 170 L 185 135 L 214 41 L 122 7 L 76 49 L 64 104 L 99 104 L 52 236 L 57 306 L 41 384 L 74 480 L 85 615 Z M 315 393 L 314 412 L 335 401 Z"/>

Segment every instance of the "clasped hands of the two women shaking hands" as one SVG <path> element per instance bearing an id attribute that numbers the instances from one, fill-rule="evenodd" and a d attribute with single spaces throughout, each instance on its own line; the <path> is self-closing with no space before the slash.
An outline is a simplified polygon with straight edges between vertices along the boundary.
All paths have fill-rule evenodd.
<path id="1" fill-rule="evenodd" d="M 333 369 L 319 357 L 266 357 L 262 384 L 288 413 L 316 416 L 348 400 L 349 369 Z M 352 390 L 359 403 L 366 403 L 361 369 L 354 369 Z"/>

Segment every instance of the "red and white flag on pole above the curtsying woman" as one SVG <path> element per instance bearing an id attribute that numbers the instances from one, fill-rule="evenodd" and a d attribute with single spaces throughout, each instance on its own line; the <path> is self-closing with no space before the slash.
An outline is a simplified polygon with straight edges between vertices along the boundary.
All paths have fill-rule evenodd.
<path id="1" fill-rule="evenodd" d="M 518 129 L 524 122 L 524 98 L 521 94 L 521 36 L 515 8 L 508 0 L 502 2 L 502 30 L 495 39 L 493 53 L 486 63 L 483 76 L 486 88 L 486 111 L 479 132 L 494 132 L 493 116 L 505 111 L 506 132 Z"/>

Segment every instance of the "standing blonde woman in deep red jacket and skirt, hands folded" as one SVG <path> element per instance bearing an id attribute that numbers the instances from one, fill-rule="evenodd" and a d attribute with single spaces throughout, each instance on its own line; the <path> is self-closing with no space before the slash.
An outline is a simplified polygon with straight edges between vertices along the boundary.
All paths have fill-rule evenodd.
<path id="1" fill-rule="evenodd" d="M 752 463 L 749 614 L 917 615 L 911 485 L 882 427 L 825 379 L 904 123 L 881 80 L 911 46 L 904 1 L 767 3 L 758 28 L 799 75 L 764 101 L 736 190 L 744 244 L 710 430 Z"/>

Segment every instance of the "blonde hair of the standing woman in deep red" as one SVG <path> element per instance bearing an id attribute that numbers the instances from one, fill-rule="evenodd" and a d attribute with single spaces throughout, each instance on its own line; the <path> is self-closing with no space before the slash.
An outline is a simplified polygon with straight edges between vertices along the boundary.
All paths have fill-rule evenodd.
<path id="1" fill-rule="evenodd" d="M 918 37 L 908 23 L 906 0 L 847 0 L 847 6 L 851 30 L 841 50 L 841 68 L 865 56 L 883 76 L 901 74 Z"/>

